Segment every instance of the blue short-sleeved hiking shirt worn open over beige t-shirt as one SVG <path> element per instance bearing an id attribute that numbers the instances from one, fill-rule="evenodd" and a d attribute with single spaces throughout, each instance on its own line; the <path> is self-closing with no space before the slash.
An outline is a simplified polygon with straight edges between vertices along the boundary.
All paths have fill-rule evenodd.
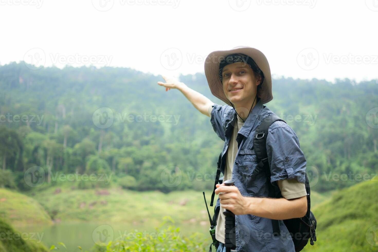
<path id="1" fill-rule="evenodd" d="M 274 114 L 259 98 L 242 128 L 237 133 L 238 152 L 232 169 L 232 180 L 243 196 L 268 198 L 270 190 L 277 187 L 278 180 L 297 179 L 305 183 L 306 159 L 299 147 L 293 129 L 285 122 L 276 121 L 268 129 L 266 151 L 271 177 L 266 173 L 251 175 L 257 166 L 253 149 L 253 137 L 262 120 Z M 217 135 L 225 141 L 220 170 L 224 175 L 228 144 L 235 125 L 236 113 L 229 105 L 212 105 L 211 124 Z M 219 198 L 215 207 L 220 206 Z M 294 243 L 283 220 L 279 220 L 281 235 L 273 236 L 272 221 L 255 215 L 235 215 L 236 250 L 238 252 L 288 252 L 295 251 Z"/>

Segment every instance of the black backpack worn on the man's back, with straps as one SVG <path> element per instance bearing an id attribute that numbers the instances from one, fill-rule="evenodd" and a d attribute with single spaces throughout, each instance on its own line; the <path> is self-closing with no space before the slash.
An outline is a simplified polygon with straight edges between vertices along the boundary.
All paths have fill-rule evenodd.
<path id="1" fill-rule="evenodd" d="M 258 164 L 255 170 L 253 171 L 253 174 L 251 175 L 252 178 L 255 178 L 256 175 L 260 171 L 264 171 L 264 170 L 268 176 L 267 178 L 270 178 L 270 167 L 269 167 L 269 162 L 268 162 L 268 155 L 266 153 L 266 137 L 268 136 L 268 128 L 270 127 L 271 124 L 273 124 L 273 122 L 276 122 L 276 121 L 283 121 L 283 120 L 280 119 L 275 114 L 271 114 L 267 116 L 256 129 L 256 132 L 253 138 L 253 147 L 256 153 Z M 222 184 L 222 181 L 219 180 L 221 158 L 222 158 L 222 153 L 219 155 L 219 159 L 217 163 L 217 174 L 215 177 L 214 190 L 216 189 L 216 185 L 218 184 L 218 182 L 221 182 Z M 314 245 L 314 241 L 316 241 L 316 234 L 315 234 L 316 219 L 315 219 L 314 214 L 310 211 L 310 206 L 311 206 L 310 183 L 308 181 L 306 173 L 305 173 L 305 187 L 306 187 L 306 192 L 307 192 L 306 215 L 301 218 L 283 220 L 283 223 L 285 224 L 285 226 L 287 227 L 291 235 L 296 252 L 301 251 L 304 248 L 304 246 L 306 246 L 306 244 L 308 243 L 308 239 L 310 239 L 311 245 Z M 269 195 L 270 198 L 282 198 L 282 195 L 278 187 L 273 187 L 271 189 L 274 189 L 274 190 L 270 190 L 271 192 Z M 213 191 L 211 195 L 210 206 L 213 206 L 214 196 L 215 196 L 215 192 Z M 213 223 L 215 224 L 217 223 L 216 221 L 217 221 L 218 214 L 219 214 L 219 206 L 214 209 Z M 279 220 L 272 220 L 272 225 L 273 225 L 274 235 L 279 235 L 280 233 Z"/>

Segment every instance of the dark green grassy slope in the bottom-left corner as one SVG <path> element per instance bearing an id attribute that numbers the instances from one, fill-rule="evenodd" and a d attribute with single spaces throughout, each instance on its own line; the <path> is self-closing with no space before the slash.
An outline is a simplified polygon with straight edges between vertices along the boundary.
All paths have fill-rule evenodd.
<path id="1" fill-rule="evenodd" d="M 42 244 L 37 244 L 32 240 L 22 240 L 17 231 L 8 223 L 0 218 L 0 233 L 3 234 L 0 239 L 0 252 L 47 252 L 48 250 Z M 9 234 L 9 235 L 8 235 Z M 30 237 L 32 239 L 32 237 Z"/>

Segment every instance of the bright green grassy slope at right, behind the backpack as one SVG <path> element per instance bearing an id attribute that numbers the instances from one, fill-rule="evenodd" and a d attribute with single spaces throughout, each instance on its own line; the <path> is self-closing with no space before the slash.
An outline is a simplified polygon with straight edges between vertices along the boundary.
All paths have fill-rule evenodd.
<path id="1" fill-rule="evenodd" d="M 378 251 L 378 231 L 375 246 L 370 244 L 373 239 L 368 232 L 378 225 L 378 182 L 361 182 L 343 189 L 314 207 L 313 212 L 318 221 L 318 241 L 314 246 L 308 243 L 304 251 Z"/>

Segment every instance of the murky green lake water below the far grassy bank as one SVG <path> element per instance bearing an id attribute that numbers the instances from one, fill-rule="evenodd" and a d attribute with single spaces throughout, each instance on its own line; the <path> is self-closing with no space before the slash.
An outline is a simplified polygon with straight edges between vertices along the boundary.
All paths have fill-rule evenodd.
<path id="1" fill-rule="evenodd" d="M 209 238 L 210 224 L 201 226 L 199 224 L 176 224 L 175 227 L 180 227 L 178 234 L 186 236 L 192 232 L 203 233 L 206 238 Z M 136 233 L 139 235 L 159 235 L 154 227 L 149 226 L 135 226 L 128 223 L 59 223 L 52 226 L 25 226 L 17 227 L 20 232 L 29 233 L 29 237 L 42 240 L 42 243 L 50 249 L 51 245 L 58 245 L 62 242 L 67 247 L 67 251 L 80 251 L 77 246 L 81 246 L 83 251 L 90 250 L 95 243 L 100 244 L 101 241 L 108 243 L 110 240 L 117 240 L 120 237 L 135 237 Z M 136 231 L 137 230 L 137 231 Z M 41 238 L 41 239 L 40 239 Z M 209 243 L 210 244 L 210 243 Z"/>

